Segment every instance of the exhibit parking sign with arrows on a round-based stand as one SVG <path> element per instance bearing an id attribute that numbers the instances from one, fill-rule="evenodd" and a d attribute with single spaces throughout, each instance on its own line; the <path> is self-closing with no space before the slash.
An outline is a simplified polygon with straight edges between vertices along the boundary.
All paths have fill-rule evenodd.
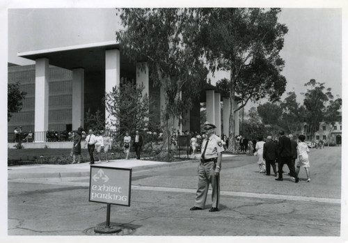
<path id="1" fill-rule="evenodd" d="M 132 168 L 90 166 L 89 201 L 106 203 L 106 225 L 98 226 L 95 233 L 117 233 L 122 228 L 110 226 L 111 204 L 130 206 Z"/>

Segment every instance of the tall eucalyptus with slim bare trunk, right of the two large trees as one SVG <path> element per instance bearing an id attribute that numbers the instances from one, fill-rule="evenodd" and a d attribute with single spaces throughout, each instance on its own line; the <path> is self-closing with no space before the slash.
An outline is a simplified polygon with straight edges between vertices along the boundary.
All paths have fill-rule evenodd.
<path id="1" fill-rule="evenodd" d="M 286 79 L 279 56 L 287 26 L 278 23 L 279 8 L 200 8 L 200 45 L 209 70 L 230 71 L 229 148 L 235 148 L 235 111 L 249 100 L 278 100 Z M 235 97 L 240 99 L 234 108 Z"/>

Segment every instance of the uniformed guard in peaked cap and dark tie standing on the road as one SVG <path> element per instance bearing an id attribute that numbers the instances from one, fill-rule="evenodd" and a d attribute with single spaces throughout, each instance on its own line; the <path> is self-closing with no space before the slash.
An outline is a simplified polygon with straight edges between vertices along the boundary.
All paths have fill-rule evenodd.
<path id="1" fill-rule="evenodd" d="M 209 212 L 219 211 L 221 159 L 223 146 L 219 136 L 214 134 L 216 126 L 205 123 L 207 135 L 202 143 L 200 164 L 198 165 L 198 189 L 194 207 L 190 210 L 203 210 L 207 199 L 209 184 L 212 185 L 212 208 Z"/>

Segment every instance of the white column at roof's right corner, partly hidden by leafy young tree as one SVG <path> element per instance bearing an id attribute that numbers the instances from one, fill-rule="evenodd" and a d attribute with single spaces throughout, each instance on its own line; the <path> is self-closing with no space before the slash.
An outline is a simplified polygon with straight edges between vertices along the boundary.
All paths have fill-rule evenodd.
<path id="1" fill-rule="evenodd" d="M 110 49 L 105 51 L 105 93 L 110 93 L 113 87 L 120 87 L 120 50 Z M 116 129 L 118 123 L 115 116 L 111 116 L 105 108 L 105 123 L 109 129 Z"/>

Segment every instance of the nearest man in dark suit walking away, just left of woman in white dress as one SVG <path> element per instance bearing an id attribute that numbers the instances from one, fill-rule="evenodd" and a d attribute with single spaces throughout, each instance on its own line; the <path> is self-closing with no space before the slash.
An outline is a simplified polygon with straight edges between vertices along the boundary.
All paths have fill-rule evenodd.
<path id="1" fill-rule="evenodd" d="M 295 178 L 295 182 L 299 182 L 295 166 L 292 164 L 292 146 L 291 141 L 284 135 L 284 131 L 280 131 L 280 138 L 278 139 L 278 178 L 276 180 L 283 180 L 283 166 L 287 164 L 290 170 L 290 176 Z"/>

